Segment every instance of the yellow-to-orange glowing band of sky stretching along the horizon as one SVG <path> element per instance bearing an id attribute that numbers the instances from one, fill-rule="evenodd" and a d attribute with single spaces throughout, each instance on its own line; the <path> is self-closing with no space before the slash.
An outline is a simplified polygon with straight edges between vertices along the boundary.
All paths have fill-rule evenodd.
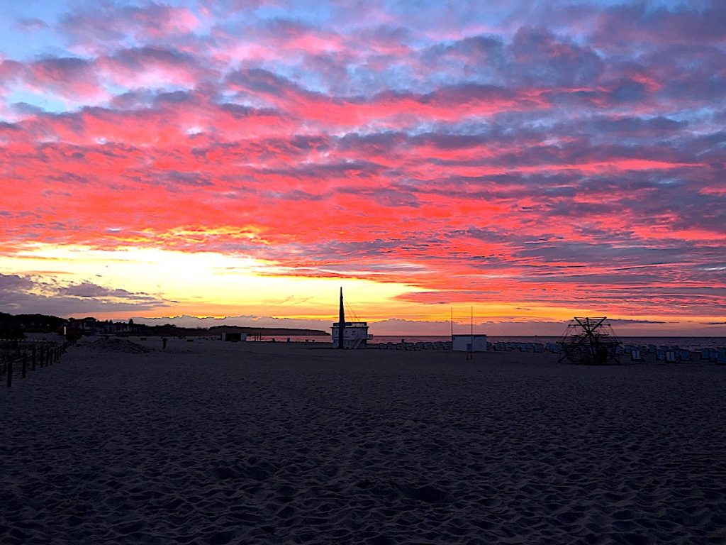
<path id="1" fill-rule="evenodd" d="M 58 246 L 32 243 L 22 251 L 0 257 L 5 274 L 31 276 L 41 292 L 76 286 L 102 286 L 108 294 L 108 310 L 92 312 L 99 319 L 123 320 L 131 315 L 162 318 L 175 315 L 224 318 L 235 315 L 271 316 L 298 320 L 337 318 L 338 289 L 344 286 L 346 307 L 370 323 L 391 318 L 444 323 L 454 314 L 456 323 L 467 323 L 470 312 L 476 322 L 562 322 L 574 315 L 600 315 L 597 308 L 547 307 L 520 302 L 472 304 L 423 304 L 405 297 L 422 288 L 402 283 L 362 278 L 314 278 L 286 274 L 273 262 L 217 252 L 184 252 L 154 248 L 93 249 L 88 246 Z M 78 287 L 81 286 L 81 287 Z M 116 290 L 122 290 L 119 292 Z M 130 311 L 115 303 L 124 295 L 142 295 L 156 301 L 144 310 Z M 39 293 L 41 294 L 41 293 Z M 133 303 L 133 300 L 131 300 Z M 639 320 L 668 321 L 645 315 Z M 706 323 L 707 320 L 688 320 Z M 664 331 L 673 324 L 659 326 Z M 534 331 L 537 334 L 537 331 Z"/>

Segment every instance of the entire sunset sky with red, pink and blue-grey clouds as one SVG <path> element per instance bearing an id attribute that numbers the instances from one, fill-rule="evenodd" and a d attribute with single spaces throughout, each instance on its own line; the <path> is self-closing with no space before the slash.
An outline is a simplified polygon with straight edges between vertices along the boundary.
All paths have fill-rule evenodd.
<path id="1" fill-rule="evenodd" d="M 726 336 L 726 2 L 0 12 L 0 312 Z"/>

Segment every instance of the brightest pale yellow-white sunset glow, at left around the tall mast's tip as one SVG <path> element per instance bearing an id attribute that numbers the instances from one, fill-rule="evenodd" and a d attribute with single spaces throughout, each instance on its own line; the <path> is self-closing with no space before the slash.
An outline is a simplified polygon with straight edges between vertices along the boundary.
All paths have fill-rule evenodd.
<path id="1" fill-rule="evenodd" d="M 217 252 L 134 247 L 100 250 L 36 243 L 18 249 L 4 262 L 12 272 L 33 278 L 33 286 L 25 290 L 26 301 L 44 292 L 56 298 L 65 296 L 65 302 L 71 304 L 73 298 L 88 303 L 100 295 L 102 301 L 94 315 L 101 318 L 118 313 L 114 303 L 121 302 L 126 308 L 139 297 L 175 313 L 215 317 L 260 311 L 280 318 L 319 320 L 330 315 L 331 287 L 326 278 L 295 276 L 269 262 Z M 52 282 L 43 279 L 49 270 L 58 268 L 63 272 L 55 273 Z M 134 286 L 134 293 L 110 293 L 103 286 Z M 415 291 L 415 286 L 398 283 L 346 281 L 346 293 L 363 302 L 359 308 L 367 315 L 375 312 L 375 307 L 365 303 L 367 299 L 385 301 Z M 15 304 L 17 312 L 23 310 L 20 302 Z"/>

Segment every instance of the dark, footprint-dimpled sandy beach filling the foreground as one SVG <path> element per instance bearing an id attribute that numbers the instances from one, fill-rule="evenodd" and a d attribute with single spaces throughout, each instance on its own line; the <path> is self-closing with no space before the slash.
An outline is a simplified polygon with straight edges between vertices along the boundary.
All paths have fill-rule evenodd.
<path id="1" fill-rule="evenodd" d="M 87 343 L 0 388 L 4 544 L 726 544 L 726 368 Z"/>

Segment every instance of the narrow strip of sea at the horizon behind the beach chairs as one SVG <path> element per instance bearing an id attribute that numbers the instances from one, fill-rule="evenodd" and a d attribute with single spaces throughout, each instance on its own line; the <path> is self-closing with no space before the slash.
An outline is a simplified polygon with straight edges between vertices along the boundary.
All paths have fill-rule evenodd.
<path id="1" fill-rule="evenodd" d="M 331 342 L 330 336 L 309 336 L 309 335 L 293 335 L 293 336 L 262 336 L 259 340 L 261 341 L 272 341 L 276 342 Z M 487 335 L 486 340 L 488 342 L 540 342 L 545 344 L 547 342 L 558 342 L 562 339 L 561 336 L 501 336 L 501 335 Z M 683 350 L 700 350 L 701 348 L 723 348 L 726 347 L 726 337 L 626 337 L 619 336 L 620 341 L 623 344 L 654 344 L 656 347 L 680 347 Z M 248 341 L 252 340 L 248 337 Z M 446 342 L 450 341 L 451 336 L 449 335 L 375 335 L 368 342 L 369 344 L 387 343 L 387 342 Z"/>

